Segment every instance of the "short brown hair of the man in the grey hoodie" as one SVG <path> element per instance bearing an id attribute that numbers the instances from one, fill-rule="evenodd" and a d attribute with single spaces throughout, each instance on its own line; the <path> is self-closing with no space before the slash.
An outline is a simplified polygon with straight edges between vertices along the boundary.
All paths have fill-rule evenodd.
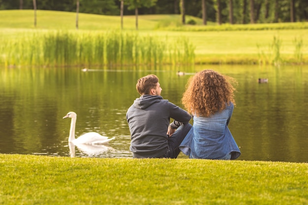
<path id="1" fill-rule="evenodd" d="M 150 90 L 152 88 L 156 88 L 156 84 L 158 83 L 157 76 L 151 74 L 145 77 L 140 78 L 137 81 L 136 89 L 140 95 L 150 94 Z"/>

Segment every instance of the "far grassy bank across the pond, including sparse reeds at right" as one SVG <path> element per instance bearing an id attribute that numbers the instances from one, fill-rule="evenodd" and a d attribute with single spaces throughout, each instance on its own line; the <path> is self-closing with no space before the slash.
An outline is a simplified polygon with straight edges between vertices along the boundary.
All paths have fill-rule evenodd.
<path id="1" fill-rule="evenodd" d="M 33 28 L 33 11 L 0 11 L 1 44 L 25 33 L 32 35 L 33 31 L 80 33 L 119 31 L 121 28 L 119 16 L 80 14 L 79 30 L 76 31 L 75 17 L 75 13 L 70 12 L 39 10 L 37 28 Z M 169 40 L 187 39 L 195 47 L 194 62 L 198 64 L 308 63 L 307 22 L 222 26 L 209 22 L 208 26 L 181 26 L 179 20 L 179 15 L 141 15 L 138 34 L 154 38 L 167 36 Z M 202 21 L 194 20 L 198 24 Z M 124 16 L 123 28 L 125 32 L 135 32 L 134 16 Z M 276 39 L 279 39 L 279 44 Z"/>

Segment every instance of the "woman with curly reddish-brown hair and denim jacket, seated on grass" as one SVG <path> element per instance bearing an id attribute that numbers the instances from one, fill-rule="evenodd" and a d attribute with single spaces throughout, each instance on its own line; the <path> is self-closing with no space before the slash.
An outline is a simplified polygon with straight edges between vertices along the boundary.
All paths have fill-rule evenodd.
<path id="1" fill-rule="evenodd" d="M 189 158 L 236 159 L 241 155 L 228 124 L 235 105 L 233 86 L 213 70 L 189 79 L 182 103 L 193 116 L 193 126 L 180 148 Z"/>

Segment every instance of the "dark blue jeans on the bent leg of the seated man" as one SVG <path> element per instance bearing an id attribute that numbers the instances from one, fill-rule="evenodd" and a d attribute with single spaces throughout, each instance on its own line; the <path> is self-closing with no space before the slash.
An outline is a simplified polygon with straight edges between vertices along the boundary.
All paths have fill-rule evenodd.
<path id="1" fill-rule="evenodd" d="M 168 138 L 168 149 L 163 158 L 177 158 L 180 154 L 181 150 L 179 146 L 182 141 L 186 137 L 187 133 L 191 129 L 192 125 L 187 123 L 185 125 L 181 125 L 171 137 Z"/>

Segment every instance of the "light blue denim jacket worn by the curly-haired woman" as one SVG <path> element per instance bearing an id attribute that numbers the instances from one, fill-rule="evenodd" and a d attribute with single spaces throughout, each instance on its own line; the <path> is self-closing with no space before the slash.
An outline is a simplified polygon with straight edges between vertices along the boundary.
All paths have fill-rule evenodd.
<path id="1" fill-rule="evenodd" d="M 210 117 L 193 116 L 193 126 L 180 145 L 180 149 L 189 158 L 231 159 L 241 155 L 228 124 L 234 109 L 233 103 L 221 112 Z"/>

